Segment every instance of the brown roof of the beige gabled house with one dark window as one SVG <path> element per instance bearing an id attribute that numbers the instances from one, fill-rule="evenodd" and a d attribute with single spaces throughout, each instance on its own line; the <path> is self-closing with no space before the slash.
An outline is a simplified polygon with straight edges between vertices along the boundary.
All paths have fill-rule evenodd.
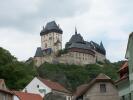
<path id="1" fill-rule="evenodd" d="M 112 84 L 114 84 L 114 82 L 111 80 L 110 77 L 108 77 L 107 75 L 101 73 L 99 74 L 95 79 L 93 79 L 92 81 L 90 81 L 88 84 L 84 84 L 81 85 L 77 88 L 76 92 L 75 92 L 75 96 L 79 97 L 81 95 L 83 95 L 84 93 L 86 93 L 89 88 L 91 88 L 96 82 L 111 82 Z"/>

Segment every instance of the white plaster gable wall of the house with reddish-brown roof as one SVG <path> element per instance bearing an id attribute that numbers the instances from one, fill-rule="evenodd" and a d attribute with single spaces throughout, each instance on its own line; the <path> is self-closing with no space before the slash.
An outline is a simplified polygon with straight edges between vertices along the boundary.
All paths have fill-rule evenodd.
<path id="1" fill-rule="evenodd" d="M 39 85 L 39 88 L 37 87 L 37 85 Z M 35 93 L 35 94 L 40 94 L 42 97 L 45 96 L 44 93 L 40 93 L 39 89 L 45 89 L 46 90 L 46 94 L 51 92 L 52 90 L 46 86 L 45 84 L 43 84 L 39 79 L 37 79 L 36 77 L 23 89 L 23 92 L 25 92 L 25 90 L 27 90 L 28 93 Z"/>

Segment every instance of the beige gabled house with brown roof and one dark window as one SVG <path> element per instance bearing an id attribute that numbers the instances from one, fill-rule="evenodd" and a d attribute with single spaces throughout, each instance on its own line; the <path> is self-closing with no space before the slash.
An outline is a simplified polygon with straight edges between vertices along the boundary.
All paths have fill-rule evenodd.
<path id="1" fill-rule="evenodd" d="M 120 100 L 114 82 L 99 74 L 90 83 L 77 88 L 73 100 Z"/>

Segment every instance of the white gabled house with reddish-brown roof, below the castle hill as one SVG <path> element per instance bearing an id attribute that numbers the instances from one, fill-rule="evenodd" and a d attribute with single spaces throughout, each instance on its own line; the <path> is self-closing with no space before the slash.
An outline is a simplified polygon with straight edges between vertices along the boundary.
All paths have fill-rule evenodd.
<path id="1" fill-rule="evenodd" d="M 44 97 L 48 93 L 56 93 L 66 97 L 66 100 L 71 100 L 70 92 L 61 84 L 50 80 L 35 77 L 24 89 L 23 92 L 35 93 Z"/>

